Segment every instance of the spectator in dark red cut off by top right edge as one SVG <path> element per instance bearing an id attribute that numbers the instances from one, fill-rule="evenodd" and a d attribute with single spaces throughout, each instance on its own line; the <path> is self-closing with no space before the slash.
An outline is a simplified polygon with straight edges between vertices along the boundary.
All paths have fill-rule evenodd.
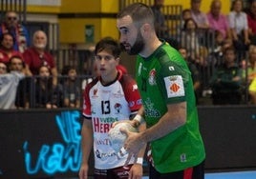
<path id="1" fill-rule="evenodd" d="M 252 0 L 247 13 L 248 34 L 252 45 L 256 45 L 256 0 Z"/>

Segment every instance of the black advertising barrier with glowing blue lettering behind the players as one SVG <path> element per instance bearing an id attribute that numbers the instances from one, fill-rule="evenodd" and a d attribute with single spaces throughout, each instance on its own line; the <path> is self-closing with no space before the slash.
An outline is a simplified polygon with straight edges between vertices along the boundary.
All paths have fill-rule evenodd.
<path id="1" fill-rule="evenodd" d="M 256 169 L 256 107 L 199 107 L 209 170 Z M 0 178 L 77 177 L 80 109 L 0 112 Z M 94 163 L 90 158 L 90 175 Z M 144 163 L 147 175 L 147 163 Z"/>

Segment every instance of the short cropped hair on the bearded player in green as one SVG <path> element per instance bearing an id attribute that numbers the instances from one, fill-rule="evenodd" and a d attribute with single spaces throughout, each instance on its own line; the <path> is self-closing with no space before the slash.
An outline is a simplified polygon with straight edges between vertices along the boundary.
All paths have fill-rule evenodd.
<path id="1" fill-rule="evenodd" d="M 134 3 L 117 13 L 117 19 L 126 15 L 131 16 L 135 23 L 149 23 L 154 26 L 154 13 L 151 8 L 143 3 Z"/>

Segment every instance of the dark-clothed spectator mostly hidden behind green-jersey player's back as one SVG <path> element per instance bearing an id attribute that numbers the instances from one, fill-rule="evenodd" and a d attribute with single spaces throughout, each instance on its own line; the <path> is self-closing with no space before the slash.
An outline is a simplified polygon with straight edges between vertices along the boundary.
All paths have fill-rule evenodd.
<path id="1" fill-rule="evenodd" d="M 189 54 L 185 48 L 180 48 L 179 49 L 181 56 L 184 58 L 184 60 L 187 63 L 188 69 L 191 71 L 191 76 L 193 80 L 193 87 L 196 95 L 196 102 L 199 105 L 199 98 L 201 96 L 201 77 L 200 77 L 200 72 L 197 68 L 197 66 L 193 63 L 191 58 L 189 57 Z"/>

